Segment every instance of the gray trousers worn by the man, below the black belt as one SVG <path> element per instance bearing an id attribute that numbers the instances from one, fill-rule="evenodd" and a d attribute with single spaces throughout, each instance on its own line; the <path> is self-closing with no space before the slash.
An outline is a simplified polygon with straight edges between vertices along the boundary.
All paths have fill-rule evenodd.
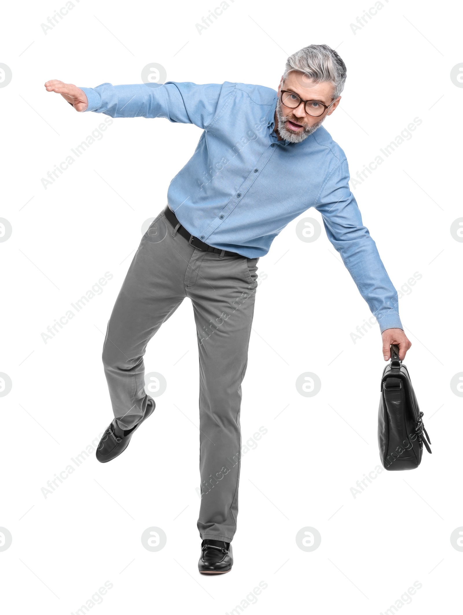
<path id="1" fill-rule="evenodd" d="M 231 542 L 240 474 L 241 383 L 247 366 L 258 258 L 202 252 L 160 213 L 141 239 L 108 323 L 103 364 L 114 416 L 130 429 L 146 411 L 149 339 L 191 299 L 199 351 L 202 539 Z"/>

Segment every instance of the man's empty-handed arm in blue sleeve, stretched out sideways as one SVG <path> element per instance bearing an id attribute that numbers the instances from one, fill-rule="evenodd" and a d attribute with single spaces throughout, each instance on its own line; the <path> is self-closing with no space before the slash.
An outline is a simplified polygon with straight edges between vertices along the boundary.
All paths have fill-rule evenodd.
<path id="1" fill-rule="evenodd" d="M 165 117 L 171 122 L 195 124 L 205 129 L 234 89 L 234 84 L 196 85 L 167 82 L 157 87 L 146 84 L 79 88 L 52 80 L 47 92 L 61 94 L 76 111 L 95 111 L 111 117 Z"/>

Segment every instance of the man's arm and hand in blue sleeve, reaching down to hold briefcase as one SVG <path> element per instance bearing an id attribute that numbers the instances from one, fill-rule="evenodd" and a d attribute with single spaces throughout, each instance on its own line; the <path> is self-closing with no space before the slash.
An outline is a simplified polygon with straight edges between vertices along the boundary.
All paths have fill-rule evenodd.
<path id="1" fill-rule="evenodd" d="M 363 226 L 357 202 L 349 189 L 347 161 L 331 173 L 320 193 L 317 210 L 323 216 L 326 235 L 354 279 L 360 294 L 378 320 L 384 360 L 390 344 L 397 344 L 403 360 L 411 346 L 398 314 L 397 291 L 387 275 L 378 249 Z"/>

